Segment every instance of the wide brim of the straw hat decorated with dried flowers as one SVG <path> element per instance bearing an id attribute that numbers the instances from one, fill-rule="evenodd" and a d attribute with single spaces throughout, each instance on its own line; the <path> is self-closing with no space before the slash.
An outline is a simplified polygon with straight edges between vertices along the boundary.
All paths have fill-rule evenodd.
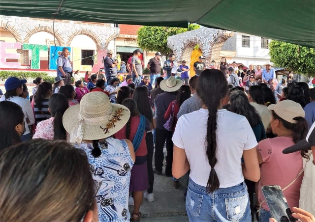
<path id="1" fill-rule="evenodd" d="M 122 115 L 120 117 L 121 120 L 115 123 L 115 127 L 108 129 L 108 133 L 104 133 L 102 128 L 106 128 L 106 124 L 109 122 L 109 119 L 104 118 L 102 121 L 97 123 L 83 121 L 84 124 L 84 132 L 83 132 L 83 140 L 96 140 L 96 139 L 105 139 L 110 137 L 120 131 L 128 122 L 130 117 L 130 111 L 123 105 L 120 104 L 110 104 L 113 108 L 113 111 L 110 117 L 113 117 L 115 111 L 119 108 L 123 108 Z M 63 114 L 63 126 L 64 129 L 70 134 L 73 132 L 74 127 L 79 122 L 79 113 L 80 113 L 80 104 L 69 107 Z M 77 131 L 75 131 L 76 133 Z"/>

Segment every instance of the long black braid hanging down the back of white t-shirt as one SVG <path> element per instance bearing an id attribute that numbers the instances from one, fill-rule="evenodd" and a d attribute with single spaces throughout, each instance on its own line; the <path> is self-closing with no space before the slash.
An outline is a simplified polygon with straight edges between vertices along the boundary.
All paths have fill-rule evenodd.
<path id="1" fill-rule="evenodd" d="M 217 107 L 220 106 L 220 100 L 214 101 L 212 100 L 209 104 L 206 104 L 208 107 L 209 115 L 208 115 L 208 123 L 207 123 L 207 156 L 208 162 L 211 167 L 209 179 L 207 182 L 207 189 L 209 192 L 214 192 L 219 189 L 220 181 L 215 170 L 215 166 L 218 162 L 217 159 Z"/>

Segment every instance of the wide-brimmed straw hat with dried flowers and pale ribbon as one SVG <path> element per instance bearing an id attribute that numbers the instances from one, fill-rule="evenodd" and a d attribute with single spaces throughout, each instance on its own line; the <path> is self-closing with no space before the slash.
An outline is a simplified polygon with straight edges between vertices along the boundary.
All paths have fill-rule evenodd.
<path id="1" fill-rule="evenodd" d="M 70 134 L 70 142 L 83 139 L 104 139 L 122 129 L 130 111 L 120 104 L 110 103 L 103 92 L 84 95 L 80 104 L 68 108 L 63 114 L 63 126 Z"/>

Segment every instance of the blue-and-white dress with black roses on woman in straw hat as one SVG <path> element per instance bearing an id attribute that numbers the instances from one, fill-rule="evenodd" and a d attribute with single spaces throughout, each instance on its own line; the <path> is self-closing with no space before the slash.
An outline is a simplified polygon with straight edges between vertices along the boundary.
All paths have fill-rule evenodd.
<path id="1" fill-rule="evenodd" d="M 92 143 L 76 147 L 86 152 L 94 179 L 102 181 L 96 195 L 99 222 L 126 222 L 130 220 L 128 194 L 134 163 L 125 140 L 107 138 L 106 141 L 107 147 L 99 142 L 101 155 L 97 158 L 91 153 Z"/>

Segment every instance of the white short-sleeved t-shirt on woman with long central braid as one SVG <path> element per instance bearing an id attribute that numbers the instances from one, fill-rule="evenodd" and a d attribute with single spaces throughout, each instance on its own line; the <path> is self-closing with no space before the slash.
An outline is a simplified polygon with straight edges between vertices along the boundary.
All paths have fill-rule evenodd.
<path id="1" fill-rule="evenodd" d="M 178 119 L 173 142 L 185 149 L 190 165 L 189 177 L 200 186 L 207 186 L 211 167 L 206 154 L 208 110 L 200 109 Z M 252 127 L 246 117 L 227 110 L 218 110 L 217 159 L 215 166 L 220 188 L 244 182 L 242 156 L 244 150 L 257 146 Z"/>

